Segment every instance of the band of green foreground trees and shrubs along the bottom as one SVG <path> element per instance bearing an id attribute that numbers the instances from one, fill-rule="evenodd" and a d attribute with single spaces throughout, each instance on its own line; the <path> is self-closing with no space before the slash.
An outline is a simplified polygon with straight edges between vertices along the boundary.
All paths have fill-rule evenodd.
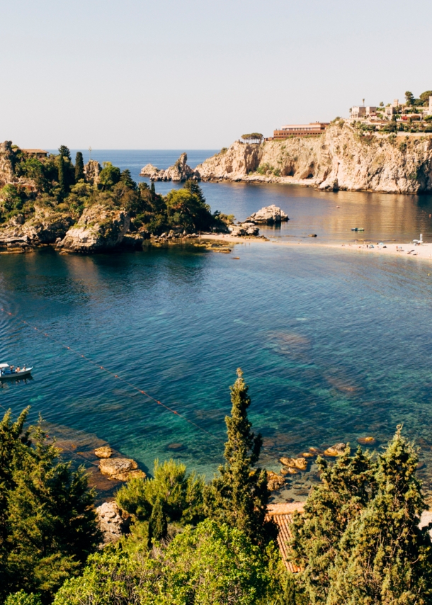
<path id="1" fill-rule="evenodd" d="M 266 524 L 261 435 L 241 371 L 231 388 L 224 464 L 209 484 L 174 460 L 117 493 L 130 534 L 100 540 L 84 470 L 72 472 L 42 424 L 0 424 L 0 602 L 5 605 L 426 605 L 432 545 L 414 446 L 398 427 L 385 451 L 349 447 L 295 515 L 285 570 Z"/>

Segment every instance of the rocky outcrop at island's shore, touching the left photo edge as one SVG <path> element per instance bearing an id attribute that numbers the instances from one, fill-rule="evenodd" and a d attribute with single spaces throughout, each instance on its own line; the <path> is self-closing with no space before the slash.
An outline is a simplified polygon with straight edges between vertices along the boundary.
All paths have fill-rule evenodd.
<path id="1" fill-rule="evenodd" d="M 73 224 L 74 219 L 69 213 L 35 205 L 35 215 L 30 220 L 24 222 L 24 217 L 18 215 L 8 222 L 4 230 L 0 230 L 0 244 L 54 244 Z"/>

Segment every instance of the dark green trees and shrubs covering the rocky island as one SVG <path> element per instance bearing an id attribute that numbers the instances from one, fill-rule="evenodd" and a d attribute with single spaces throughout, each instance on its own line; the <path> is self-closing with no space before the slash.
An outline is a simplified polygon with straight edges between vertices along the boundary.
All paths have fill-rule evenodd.
<path id="1" fill-rule="evenodd" d="M 98 204 L 129 213 L 132 231 L 145 229 L 161 234 L 173 229 L 191 233 L 224 225 L 220 213 L 210 212 L 195 181 L 161 196 L 154 183 L 151 187 L 147 183 L 137 186 L 129 170 L 120 171 L 111 162 L 103 162 L 103 166 L 93 162 L 93 172 L 89 170 L 86 176 L 81 152 L 73 164 L 64 145 L 58 154 L 45 159 L 27 157 L 10 145 L 6 160 L 19 180 L 0 189 L 0 223 L 18 216 L 28 220 L 35 213 L 35 205 L 53 213 L 68 213 L 77 220 L 84 208 Z"/>

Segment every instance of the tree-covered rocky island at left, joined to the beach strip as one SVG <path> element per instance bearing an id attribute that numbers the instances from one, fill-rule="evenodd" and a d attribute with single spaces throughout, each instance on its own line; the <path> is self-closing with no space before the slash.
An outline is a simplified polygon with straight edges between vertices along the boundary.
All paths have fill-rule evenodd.
<path id="1" fill-rule="evenodd" d="M 129 170 L 110 162 L 84 166 L 78 152 L 73 164 L 65 146 L 59 154 L 34 151 L 8 141 L 0 146 L 0 254 L 47 245 L 60 254 L 140 250 L 205 234 L 257 237 L 256 223 L 285 220 L 275 207 L 237 225 L 233 215 L 212 213 L 186 154 L 161 176 L 185 181 L 183 188 L 161 196 L 153 183 L 137 185 Z"/>

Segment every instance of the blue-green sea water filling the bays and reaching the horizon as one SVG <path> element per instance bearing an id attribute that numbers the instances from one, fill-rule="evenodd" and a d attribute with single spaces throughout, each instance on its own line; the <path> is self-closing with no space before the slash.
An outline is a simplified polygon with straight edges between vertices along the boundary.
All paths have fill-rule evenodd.
<path id="1" fill-rule="evenodd" d="M 166 168 L 182 151 L 91 157 L 139 181 L 142 166 Z M 196 166 L 215 150 L 187 153 Z M 30 406 L 30 421 L 44 419 L 101 498 L 117 486 L 96 467 L 93 450 L 106 443 L 150 475 L 154 460 L 174 458 L 210 480 L 241 368 L 268 470 L 281 456 L 356 448 L 365 437 L 373 441 L 363 447 L 380 452 L 403 424 L 432 492 L 432 263 L 356 251 L 360 237 L 392 245 L 422 233 L 431 242 L 432 196 L 202 188 L 212 210 L 237 220 L 270 204 L 290 220 L 261 228 L 270 244 L 235 244 L 230 254 L 187 246 L 60 256 L 48 247 L 0 256 L 0 362 L 34 366 L 29 380 L 0 382 L 1 411 L 16 417 Z M 352 250 L 319 245 L 329 242 Z M 312 460 L 273 498 L 305 499 L 317 480 Z"/>

